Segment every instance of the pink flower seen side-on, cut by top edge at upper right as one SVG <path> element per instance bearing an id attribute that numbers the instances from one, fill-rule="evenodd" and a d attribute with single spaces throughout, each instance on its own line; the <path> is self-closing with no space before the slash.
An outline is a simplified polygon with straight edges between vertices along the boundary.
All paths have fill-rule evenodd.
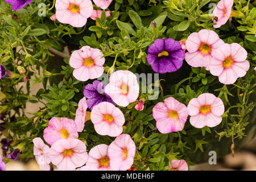
<path id="1" fill-rule="evenodd" d="M 217 20 L 213 20 L 213 22 L 216 23 L 213 25 L 214 28 L 219 28 L 228 21 L 233 3 L 234 0 L 221 0 L 218 2 L 213 10 L 214 16 L 217 16 Z"/>

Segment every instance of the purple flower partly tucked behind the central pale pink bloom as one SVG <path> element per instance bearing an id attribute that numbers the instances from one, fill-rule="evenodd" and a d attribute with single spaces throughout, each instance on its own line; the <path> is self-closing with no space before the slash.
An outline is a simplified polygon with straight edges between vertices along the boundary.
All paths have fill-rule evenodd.
<path id="1" fill-rule="evenodd" d="M 88 98 L 86 104 L 90 110 L 92 110 L 95 105 L 100 104 L 101 102 L 110 102 L 114 104 L 112 98 L 104 92 L 104 88 L 105 85 L 98 80 L 93 81 L 93 84 L 85 85 L 84 97 Z"/>

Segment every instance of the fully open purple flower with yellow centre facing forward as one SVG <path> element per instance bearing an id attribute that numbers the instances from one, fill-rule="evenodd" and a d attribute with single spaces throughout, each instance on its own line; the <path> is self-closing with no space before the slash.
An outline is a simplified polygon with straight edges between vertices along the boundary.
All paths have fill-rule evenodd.
<path id="1" fill-rule="evenodd" d="M 147 61 L 156 73 L 175 72 L 183 64 L 185 53 L 174 39 L 156 39 L 148 48 Z"/>

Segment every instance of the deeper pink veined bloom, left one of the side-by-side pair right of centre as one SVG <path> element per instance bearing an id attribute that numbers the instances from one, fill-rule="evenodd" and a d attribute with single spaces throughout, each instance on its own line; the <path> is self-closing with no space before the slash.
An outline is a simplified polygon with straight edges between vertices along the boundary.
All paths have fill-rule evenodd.
<path id="1" fill-rule="evenodd" d="M 153 117 L 160 133 L 181 131 L 188 118 L 187 107 L 173 97 L 168 97 L 153 107 Z"/>

